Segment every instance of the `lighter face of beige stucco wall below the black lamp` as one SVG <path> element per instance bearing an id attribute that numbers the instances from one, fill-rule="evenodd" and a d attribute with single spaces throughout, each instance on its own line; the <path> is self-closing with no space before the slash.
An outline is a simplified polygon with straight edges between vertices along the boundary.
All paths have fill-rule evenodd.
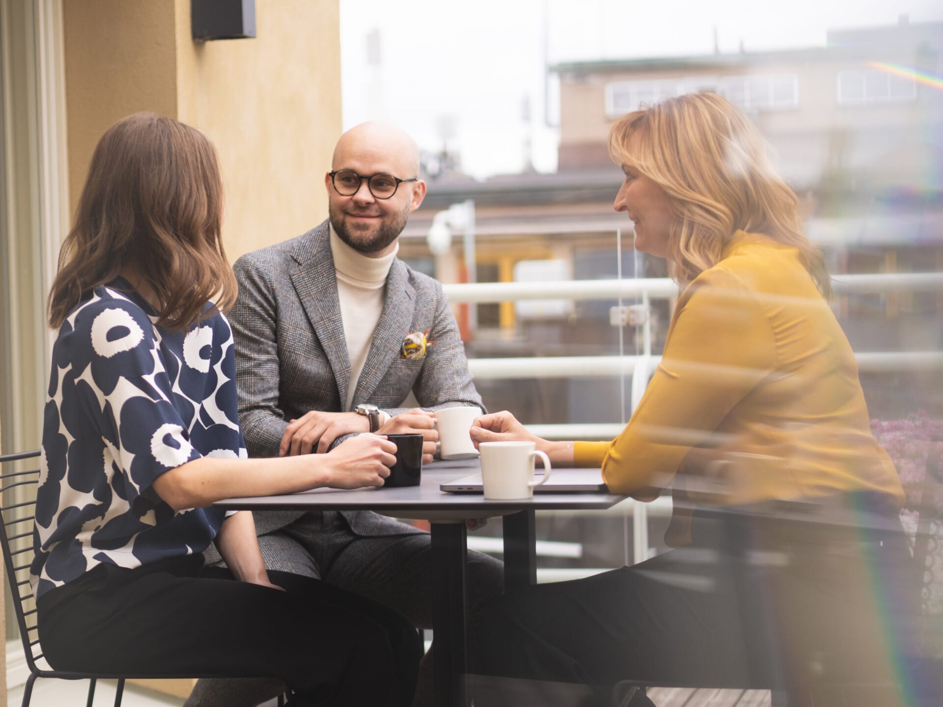
<path id="1" fill-rule="evenodd" d="M 338 0 L 256 0 L 256 39 L 190 40 L 177 0 L 179 120 L 216 143 L 231 259 L 323 221 L 340 135 Z"/>

